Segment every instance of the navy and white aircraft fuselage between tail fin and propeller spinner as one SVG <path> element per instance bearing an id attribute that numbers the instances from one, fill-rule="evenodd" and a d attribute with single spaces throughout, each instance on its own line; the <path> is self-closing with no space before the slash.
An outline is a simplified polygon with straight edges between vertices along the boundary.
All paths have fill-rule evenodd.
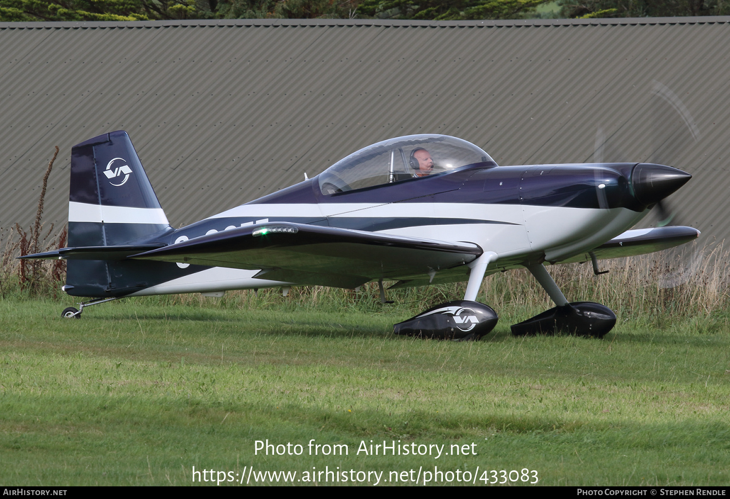
<path id="1" fill-rule="evenodd" d="M 424 239 L 469 241 L 496 252 L 491 272 L 586 252 L 626 231 L 648 209 L 631 192 L 637 163 L 466 166 L 430 177 L 325 195 L 318 177 L 166 233 L 176 242 L 245 225 L 294 222 Z M 258 270 L 190 268 L 134 295 L 296 283 Z M 151 284 L 151 283 L 150 283 Z"/>

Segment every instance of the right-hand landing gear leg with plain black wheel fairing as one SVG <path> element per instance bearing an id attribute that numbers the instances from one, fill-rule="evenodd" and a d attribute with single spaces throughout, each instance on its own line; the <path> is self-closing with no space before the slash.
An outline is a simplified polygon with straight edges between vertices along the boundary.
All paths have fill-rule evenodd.
<path id="1" fill-rule="evenodd" d="M 528 320 L 512 325 L 515 336 L 569 333 L 601 338 L 616 324 L 616 316 L 607 306 L 591 301 L 568 303 L 560 288 L 542 263 L 527 266 L 537 282 L 548 292 L 556 306 Z"/>

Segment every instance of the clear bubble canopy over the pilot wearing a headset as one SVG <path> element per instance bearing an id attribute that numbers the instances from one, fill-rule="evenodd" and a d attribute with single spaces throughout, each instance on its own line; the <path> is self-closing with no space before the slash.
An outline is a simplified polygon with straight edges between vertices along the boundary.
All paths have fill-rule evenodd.
<path id="1" fill-rule="evenodd" d="M 409 135 L 353 152 L 319 175 L 325 195 L 388 185 L 461 168 L 496 166 L 480 147 L 447 135 Z"/>

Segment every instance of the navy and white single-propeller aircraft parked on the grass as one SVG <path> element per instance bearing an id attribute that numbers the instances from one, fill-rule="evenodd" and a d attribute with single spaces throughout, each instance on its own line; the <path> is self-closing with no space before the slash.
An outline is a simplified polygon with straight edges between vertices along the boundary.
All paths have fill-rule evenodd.
<path id="1" fill-rule="evenodd" d="M 306 176 L 305 176 L 306 177 Z M 172 228 L 129 136 L 114 131 L 72 149 L 69 247 L 22 258 L 68 260 L 72 296 L 86 306 L 126 296 L 222 295 L 296 285 L 356 288 L 466 281 L 463 300 L 435 306 L 395 332 L 480 339 L 497 322 L 476 301 L 485 275 L 526 267 L 553 309 L 514 334 L 601 337 L 615 314 L 569 303 L 544 263 L 592 261 L 691 241 L 690 227 L 627 230 L 691 178 L 651 163 L 498 166 L 452 136 L 389 139 L 312 179 L 183 228 Z"/>

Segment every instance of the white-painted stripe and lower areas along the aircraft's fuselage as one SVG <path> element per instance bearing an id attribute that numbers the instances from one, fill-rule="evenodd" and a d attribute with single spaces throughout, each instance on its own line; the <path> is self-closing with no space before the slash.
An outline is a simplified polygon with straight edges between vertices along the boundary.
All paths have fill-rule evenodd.
<path id="1" fill-rule="evenodd" d="M 333 219 L 338 217 L 428 217 L 428 225 L 413 225 L 377 231 L 381 236 L 408 236 L 437 241 L 462 241 L 460 244 L 479 244 L 484 250 L 495 252 L 500 258 L 545 252 L 548 260 L 556 261 L 595 247 L 616 235 L 621 228 L 631 225 L 642 216 L 629 209 L 583 209 L 558 206 L 531 206 L 520 204 L 467 204 L 467 203 L 393 203 L 393 204 L 337 204 L 327 206 L 312 204 L 259 204 L 242 205 L 207 220 L 222 217 L 241 217 L 252 220 L 281 217 L 295 218 L 322 216 L 320 208 Z M 319 212 L 319 213 L 318 213 Z M 439 219 L 463 219 L 464 223 L 450 221 L 444 225 Z M 531 220 L 531 223 L 526 223 Z M 555 222 L 560 220 L 565 230 L 557 231 Z M 263 220 L 262 220 L 263 222 Z M 484 223 L 488 222 L 488 223 Z M 595 226 L 601 229 L 596 231 Z M 182 229 L 184 231 L 185 228 Z M 221 223 L 220 231 L 226 230 Z M 585 231 L 595 231 L 595 236 L 585 238 Z M 210 231 L 209 231 L 210 232 Z M 353 231 L 363 233 L 367 231 Z M 631 236 L 643 231 L 629 231 Z M 203 234 L 191 235 L 202 236 Z M 291 283 L 254 279 L 256 271 L 236 268 L 210 268 L 169 282 L 140 290 L 134 295 L 161 293 L 193 293 L 252 287 L 287 286 Z"/>

